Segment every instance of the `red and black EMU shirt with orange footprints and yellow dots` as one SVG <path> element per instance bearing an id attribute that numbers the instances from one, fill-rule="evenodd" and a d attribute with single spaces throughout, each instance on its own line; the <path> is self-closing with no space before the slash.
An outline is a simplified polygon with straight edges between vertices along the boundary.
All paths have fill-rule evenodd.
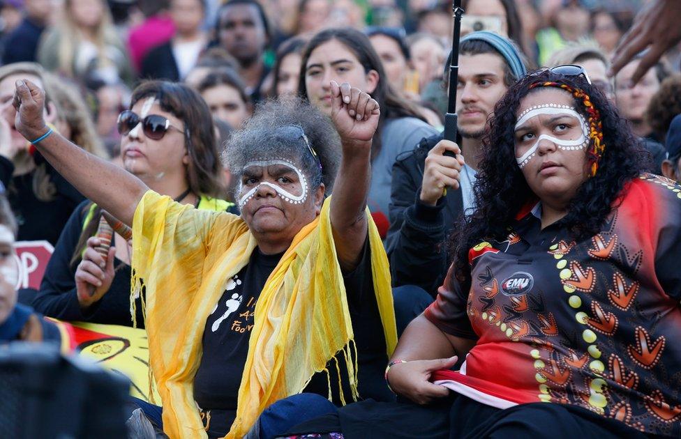
<path id="1" fill-rule="evenodd" d="M 560 221 L 541 230 L 538 209 L 470 249 L 470 289 L 450 269 L 426 317 L 477 343 L 435 380 L 490 406 L 575 404 L 681 436 L 681 186 L 637 178 L 580 242 Z"/>

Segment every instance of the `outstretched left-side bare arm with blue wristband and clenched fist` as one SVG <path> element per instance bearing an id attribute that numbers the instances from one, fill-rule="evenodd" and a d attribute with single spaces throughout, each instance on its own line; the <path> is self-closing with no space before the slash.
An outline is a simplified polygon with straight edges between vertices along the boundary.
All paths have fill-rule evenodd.
<path id="1" fill-rule="evenodd" d="M 15 126 L 33 141 L 48 130 L 43 119 L 45 93 L 28 80 L 15 85 Z M 57 132 L 36 144 L 36 148 L 85 197 L 125 224 L 132 224 L 137 203 L 149 189 L 139 178 L 75 146 Z"/>

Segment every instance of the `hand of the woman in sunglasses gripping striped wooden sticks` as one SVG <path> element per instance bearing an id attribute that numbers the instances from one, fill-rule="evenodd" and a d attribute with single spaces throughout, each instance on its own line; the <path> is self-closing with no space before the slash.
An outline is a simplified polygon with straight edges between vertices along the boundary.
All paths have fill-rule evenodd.
<path id="1" fill-rule="evenodd" d="M 114 255 L 116 248 L 110 247 L 106 261 L 95 249 L 99 238 L 89 238 L 83 259 L 75 271 L 75 287 L 81 308 L 90 307 L 109 291 L 114 280 Z"/>

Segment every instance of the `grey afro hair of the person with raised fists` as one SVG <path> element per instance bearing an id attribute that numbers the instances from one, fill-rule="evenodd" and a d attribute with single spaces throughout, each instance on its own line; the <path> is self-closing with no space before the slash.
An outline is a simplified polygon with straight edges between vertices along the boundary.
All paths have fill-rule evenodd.
<path id="1" fill-rule="evenodd" d="M 303 129 L 310 146 L 322 164 L 298 139 L 282 139 L 276 130 L 285 125 Z M 312 190 L 324 183 L 329 194 L 334 186 L 340 164 L 340 137 L 328 116 L 299 100 L 270 100 L 255 109 L 244 128 L 232 133 L 223 152 L 223 163 L 234 178 L 241 178 L 244 165 L 255 160 L 283 159 L 301 167 Z"/>

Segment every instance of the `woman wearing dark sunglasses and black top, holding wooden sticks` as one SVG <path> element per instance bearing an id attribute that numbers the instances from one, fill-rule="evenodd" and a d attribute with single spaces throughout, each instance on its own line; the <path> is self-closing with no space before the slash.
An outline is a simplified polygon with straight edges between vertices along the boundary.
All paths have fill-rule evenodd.
<path id="1" fill-rule="evenodd" d="M 133 92 L 130 109 L 118 119 L 125 169 L 179 203 L 204 210 L 235 210 L 234 204 L 220 199 L 225 195 L 223 167 L 211 121 L 204 101 L 188 87 L 160 81 L 140 85 Z M 46 316 L 133 324 L 131 242 L 115 234 L 103 258 L 96 251 L 100 242 L 95 237 L 101 215 L 99 206 L 85 201 L 61 233 L 33 300 L 33 306 Z M 137 309 L 136 321 L 144 325 L 142 307 Z"/>

